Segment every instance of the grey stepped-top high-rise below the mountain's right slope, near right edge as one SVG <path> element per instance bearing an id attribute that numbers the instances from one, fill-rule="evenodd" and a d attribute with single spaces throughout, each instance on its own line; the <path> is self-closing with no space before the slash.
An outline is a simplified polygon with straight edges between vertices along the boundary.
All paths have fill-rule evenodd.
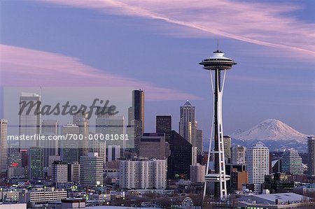
<path id="1" fill-rule="evenodd" d="M 281 159 L 281 172 L 293 175 L 303 174 L 302 157 L 297 150 L 284 150 Z"/>

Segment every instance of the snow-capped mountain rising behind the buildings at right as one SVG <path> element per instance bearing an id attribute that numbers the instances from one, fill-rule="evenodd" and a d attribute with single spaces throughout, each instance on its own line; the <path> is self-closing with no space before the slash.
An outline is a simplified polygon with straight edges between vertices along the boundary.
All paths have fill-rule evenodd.
<path id="1" fill-rule="evenodd" d="M 307 150 L 307 135 L 296 131 L 287 124 L 268 119 L 247 131 L 231 134 L 234 144 L 253 145 L 262 141 L 270 150 L 284 150 L 295 147 L 296 150 Z"/>

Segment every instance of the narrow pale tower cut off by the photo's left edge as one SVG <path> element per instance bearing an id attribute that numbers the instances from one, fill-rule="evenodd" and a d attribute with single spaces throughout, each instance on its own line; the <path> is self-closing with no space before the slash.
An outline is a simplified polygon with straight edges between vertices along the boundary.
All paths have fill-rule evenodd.
<path id="1" fill-rule="evenodd" d="M 8 120 L 0 119 L 0 175 L 6 174 L 8 168 Z"/>

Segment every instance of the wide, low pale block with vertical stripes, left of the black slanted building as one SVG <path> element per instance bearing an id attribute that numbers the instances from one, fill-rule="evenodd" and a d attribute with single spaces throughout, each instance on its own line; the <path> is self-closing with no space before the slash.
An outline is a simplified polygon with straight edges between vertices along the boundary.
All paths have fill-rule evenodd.
<path id="1" fill-rule="evenodd" d="M 166 189 L 167 161 L 120 161 L 120 189 Z"/>

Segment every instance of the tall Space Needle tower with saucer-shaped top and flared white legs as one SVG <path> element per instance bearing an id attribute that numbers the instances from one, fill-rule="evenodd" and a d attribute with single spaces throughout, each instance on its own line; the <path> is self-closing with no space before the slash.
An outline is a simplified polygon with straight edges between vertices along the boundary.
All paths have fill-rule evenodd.
<path id="1" fill-rule="evenodd" d="M 211 89 L 214 99 L 214 115 L 211 125 L 211 135 L 209 143 L 209 154 L 207 160 L 207 171 L 204 183 L 204 196 L 206 195 L 207 182 L 214 182 L 215 196 L 221 201 L 227 200 L 226 181 L 230 176 L 225 174 L 225 157 L 223 144 L 223 118 L 222 118 L 222 99 L 226 71 L 232 69 L 237 64 L 232 59 L 224 57 L 224 53 L 216 50 L 214 54 L 200 62 L 204 69 L 208 70 L 211 79 Z M 214 150 L 211 150 L 212 134 L 214 132 Z M 214 173 L 209 173 L 210 153 L 214 153 Z"/>

